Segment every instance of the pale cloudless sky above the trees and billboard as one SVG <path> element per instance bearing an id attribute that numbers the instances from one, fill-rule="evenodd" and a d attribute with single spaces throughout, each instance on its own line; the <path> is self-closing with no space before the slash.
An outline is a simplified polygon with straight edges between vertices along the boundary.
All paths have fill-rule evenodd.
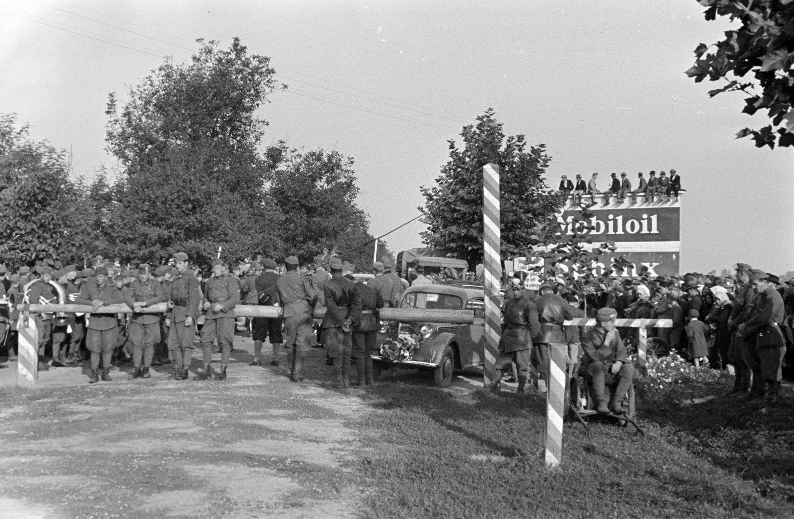
<path id="1" fill-rule="evenodd" d="M 682 272 L 742 262 L 783 274 L 794 270 L 794 150 L 735 140 L 763 114 L 684 75 L 696 45 L 729 28 L 704 21 L 696 0 L 0 0 L 0 112 L 71 150 L 75 175 L 90 178 L 115 164 L 104 149 L 110 92 L 125 100 L 197 38 L 240 37 L 289 86 L 260 109 L 263 144 L 353 157 L 374 234 L 418 216 L 447 141 L 460 144 L 462 127 L 493 108 L 508 135 L 546 145 L 549 185 L 676 168 Z M 423 229 L 415 221 L 385 240 L 418 247 Z"/>

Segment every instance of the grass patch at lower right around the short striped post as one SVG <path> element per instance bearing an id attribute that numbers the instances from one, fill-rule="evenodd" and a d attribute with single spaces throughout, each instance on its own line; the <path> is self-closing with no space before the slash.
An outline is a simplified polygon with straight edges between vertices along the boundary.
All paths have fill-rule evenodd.
<path id="1" fill-rule="evenodd" d="M 643 417 L 652 432 L 646 440 L 611 421 L 592 421 L 591 439 L 580 425 L 567 424 L 563 464 L 547 470 L 539 396 L 480 391 L 462 402 L 430 387 L 385 383 L 365 398 L 374 409 L 357 429 L 368 450 L 354 462 L 371 489 L 364 517 L 791 517 L 794 511 L 774 485 L 765 492 L 738 474 L 730 463 L 739 459 L 720 463 L 708 448 L 694 448 L 701 444 L 693 429 L 661 419 L 664 409 L 653 415 L 659 425 Z"/>

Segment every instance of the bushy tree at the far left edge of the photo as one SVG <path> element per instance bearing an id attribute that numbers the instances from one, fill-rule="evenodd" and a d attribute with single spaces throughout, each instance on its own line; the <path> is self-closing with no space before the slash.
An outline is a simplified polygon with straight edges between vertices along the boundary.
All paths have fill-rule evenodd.
<path id="1" fill-rule="evenodd" d="M 79 260 L 91 240 L 83 190 L 64 150 L 29 138 L 16 114 L 0 114 L 0 258 L 14 266 Z"/>

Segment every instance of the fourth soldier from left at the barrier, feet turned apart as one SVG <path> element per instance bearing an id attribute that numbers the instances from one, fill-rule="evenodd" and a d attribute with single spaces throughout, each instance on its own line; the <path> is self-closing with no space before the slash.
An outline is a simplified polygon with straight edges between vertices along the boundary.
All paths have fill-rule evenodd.
<path id="1" fill-rule="evenodd" d="M 212 375 L 212 344 L 218 340 L 221 348 L 221 371 L 215 380 L 226 379 L 226 367 L 234 342 L 234 327 L 237 318 L 234 307 L 240 303 L 240 283 L 233 275 L 225 274 L 225 266 L 220 258 L 215 258 L 212 265 L 212 278 L 206 282 L 204 291 L 204 326 L 201 330 L 201 345 L 204 351 L 204 370 L 195 380 L 206 380 Z M 195 279 L 195 276 L 192 276 Z M 198 281 L 197 281 L 198 283 Z"/>

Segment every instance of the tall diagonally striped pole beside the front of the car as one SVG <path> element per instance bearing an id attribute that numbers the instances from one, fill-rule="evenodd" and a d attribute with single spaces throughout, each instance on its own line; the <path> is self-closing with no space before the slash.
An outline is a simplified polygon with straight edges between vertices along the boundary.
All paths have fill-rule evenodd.
<path id="1" fill-rule="evenodd" d="M 488 163 L 483 167 L 483 249 L 485 279 L 485 387 L 497 380 L 495 363 L 499 354 L 499 290 L 502 283 L 501 233 L 499 231 L 499 166 Z"/>

